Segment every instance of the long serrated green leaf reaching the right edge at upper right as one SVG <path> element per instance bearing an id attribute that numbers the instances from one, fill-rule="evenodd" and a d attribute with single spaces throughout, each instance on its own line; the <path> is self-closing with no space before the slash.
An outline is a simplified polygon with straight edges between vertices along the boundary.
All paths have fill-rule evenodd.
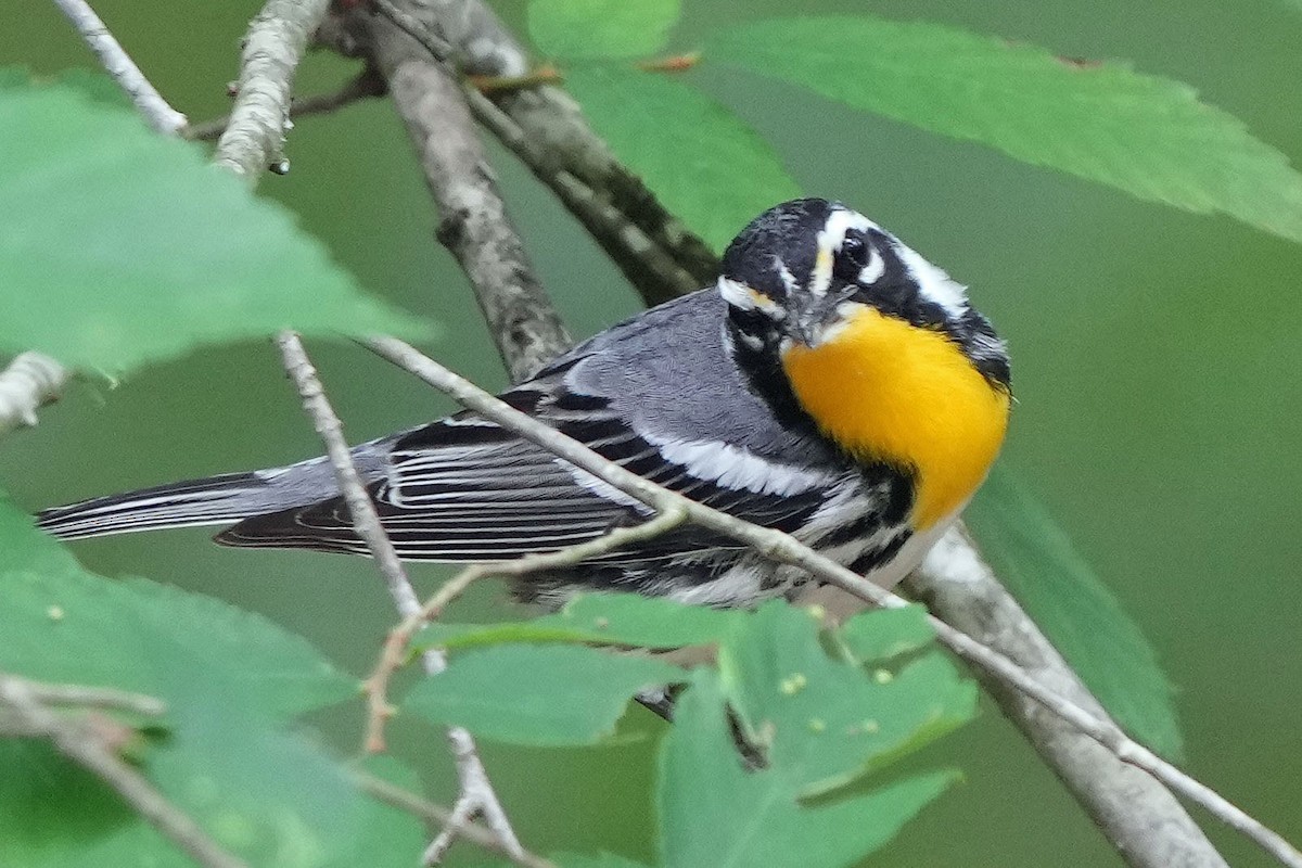
<path id="1" fill-rule="evenodd" d="M 1035 165 L 1302 241 L 1302 176 L 1187 85 L 927 22 L 741 25 L 707 56 Z"/>

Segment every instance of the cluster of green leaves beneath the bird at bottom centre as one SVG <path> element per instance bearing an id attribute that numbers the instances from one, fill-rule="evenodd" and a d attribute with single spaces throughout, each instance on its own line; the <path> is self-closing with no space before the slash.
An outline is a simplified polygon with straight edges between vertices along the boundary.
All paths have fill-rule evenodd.
<path id="1" fill-rule="evenodd" d="M 418 685 L 404 707 L 503 740 L 579 744 L 608 734 L 637 690 L 690 681 L 660 752 L 665 865 L 842 865 L 862 858 L 953 774 L 822 796 L 958 726 L 975 708 L 975 687 L 932 647 L 917 608 L 863 613 L 825 631 L 815 613 L 784 603 L 715 612 L 594 593 L 533 623 L 542 626 L 443 627 L 439 644 L 470 651 Z M 654 648 L 717 645 L 719 671 L 557 644 L 634 638 Z M 729 713 L 764 757 L 763 770 L 741 768 Z M 819 807 L 805 804 L 815 796 Z"/>

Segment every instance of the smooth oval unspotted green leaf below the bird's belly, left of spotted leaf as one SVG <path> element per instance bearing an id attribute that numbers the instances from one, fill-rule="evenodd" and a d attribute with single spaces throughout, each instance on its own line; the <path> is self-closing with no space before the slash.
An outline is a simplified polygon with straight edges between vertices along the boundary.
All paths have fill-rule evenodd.
<path id="1" fill-rule="evenodd" d="M 635 692 L 684 678 L 659 660 L 582 645 L 495 645 L 456 657 L 404 707 L 499 742 L 590 744 L 615 731 Z"/>

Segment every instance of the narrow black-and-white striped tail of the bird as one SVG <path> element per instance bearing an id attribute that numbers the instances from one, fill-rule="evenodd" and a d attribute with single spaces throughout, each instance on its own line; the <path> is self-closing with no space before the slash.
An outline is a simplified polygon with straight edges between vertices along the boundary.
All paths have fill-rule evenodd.
<path id="1" fill-rule="evenodd" d="M 36 526 L 66 540 L 160 527 L 229 524 L 266 511 L 263 474 L 223 474 L 95 497 L 36 515 Z"/>

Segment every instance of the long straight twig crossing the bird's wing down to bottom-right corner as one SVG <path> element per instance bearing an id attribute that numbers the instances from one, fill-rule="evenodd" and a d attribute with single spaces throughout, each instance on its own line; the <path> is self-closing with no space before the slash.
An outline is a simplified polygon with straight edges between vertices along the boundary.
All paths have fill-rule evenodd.
<path id="1" fill-rule="evenodd" d="M 838 587 L 874 605 L 883 608 L 909 605 L 904 597 L 872 584 L 845 566 L 802 545 L 786 534 L 750 524 L 720 513 L 625 470 L 577 440 L 566 437 L 560 431 L 499 401 L 402 341 L 391 337 L 379 337 L 370 338 L 366 341 L 366 345 L 376 354 L 450 396 L 462 406 L 518 433 L 575 467 L 586 470 L 602 481 L 613 485 L 630 497 L 635 497 L 658 511 L 682 509 L 687 513 L 689 521 L 693 523 L 745 543 L 772 561 L 798 566 L 818 580 Z M 1100 720 L 1072 700 L 1049 690 L 1027 675 L 1010 658 L 980 644 L 944 621 L 934 616 L 928 616 L 928 621 L 941 644 L 967 662 L 992 673 L 1001 682 L 1016 687 L 1026 696 L 1072 724 L 1075 729 L 1107 747 L 1122 761 L 1144 769 L 1185 798 L 1202 806 L 1221 821 L 1255 841 L 1282 864 L 1290 868 L 1302 868 L 1302 852 L 1298 852 L 1280 834 L 1268 829 L 1212 789 L 1189 777 L 1128 737 L 1115 724 Z"/>

